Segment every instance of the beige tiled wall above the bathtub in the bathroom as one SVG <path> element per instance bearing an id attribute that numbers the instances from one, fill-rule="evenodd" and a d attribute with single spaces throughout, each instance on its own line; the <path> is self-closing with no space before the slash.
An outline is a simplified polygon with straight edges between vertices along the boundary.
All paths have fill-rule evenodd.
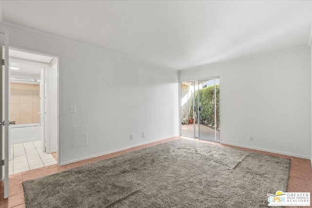
<path id="1" fill-rule="evenodd" d="M 16 124 L 39 123 L 39 84 L 11 82 L 11 121 Z"/>

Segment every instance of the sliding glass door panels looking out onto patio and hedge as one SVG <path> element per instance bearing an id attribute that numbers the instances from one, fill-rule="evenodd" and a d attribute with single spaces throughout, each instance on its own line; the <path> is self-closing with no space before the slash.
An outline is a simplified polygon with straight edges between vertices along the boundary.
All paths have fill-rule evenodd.
<path id="1" fill-rule="evenodd" d="M 180 84 L 181 135 L 219 141 L 219 78 Z"/>

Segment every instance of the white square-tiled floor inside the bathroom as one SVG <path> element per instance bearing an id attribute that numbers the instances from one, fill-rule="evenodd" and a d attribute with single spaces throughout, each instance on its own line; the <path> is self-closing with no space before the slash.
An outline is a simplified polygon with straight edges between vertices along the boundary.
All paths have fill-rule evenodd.
<path id="1" fill-rule="evenodd" d="M 11 145 L 9 175 L 57 164 L 52 154 L 41 150 L 41 141 Z"/>

